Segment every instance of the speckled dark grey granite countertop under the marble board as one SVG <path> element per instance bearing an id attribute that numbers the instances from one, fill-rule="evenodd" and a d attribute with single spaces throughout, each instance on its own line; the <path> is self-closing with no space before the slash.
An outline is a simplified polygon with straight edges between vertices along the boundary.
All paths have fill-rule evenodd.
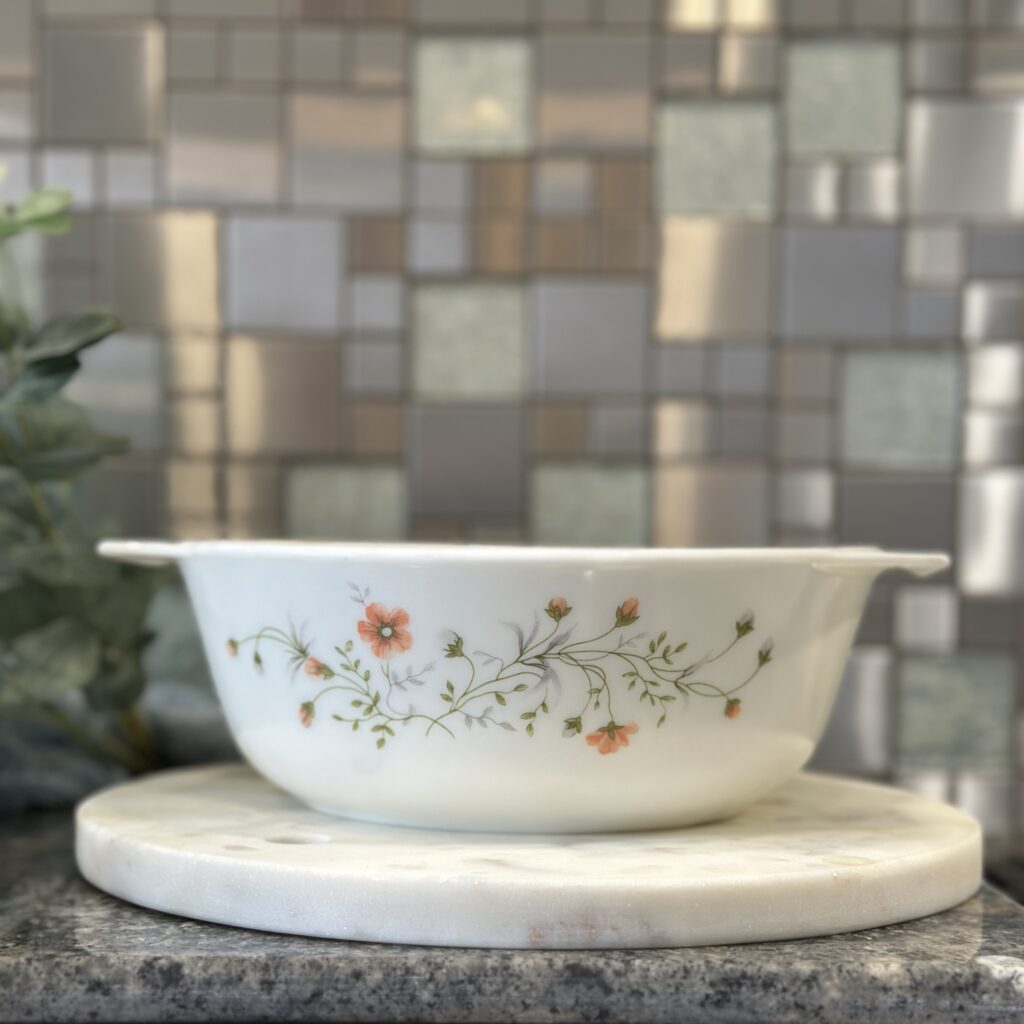
<path id="1" fill-rule="evenodd" d="M 68 815 L 0 820 L 0 1021 L 1001 1024 L 1024 1014 L 1024 907 L 990 888 L 923 921 L 799 942 L 438 949 L 130 906 L 79 878 Z"/>

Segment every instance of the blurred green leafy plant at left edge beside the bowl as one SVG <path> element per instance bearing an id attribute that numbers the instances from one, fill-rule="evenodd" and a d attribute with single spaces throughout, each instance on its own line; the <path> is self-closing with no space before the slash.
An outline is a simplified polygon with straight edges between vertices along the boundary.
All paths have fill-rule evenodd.
<path id="1" fill-rule="evenodd" d="M 121 325 L 90 311 L 33 326 L 10 248 L 68 231 L 70 202 L 47 188 L 0 210 L 0 719 L 54 726 L 134 771 L 155 760 L 136 703 L 158 578 L 100 559 L 79 522 L 79 476 L 128 442 L 63 394 L 78 353 Z"/>

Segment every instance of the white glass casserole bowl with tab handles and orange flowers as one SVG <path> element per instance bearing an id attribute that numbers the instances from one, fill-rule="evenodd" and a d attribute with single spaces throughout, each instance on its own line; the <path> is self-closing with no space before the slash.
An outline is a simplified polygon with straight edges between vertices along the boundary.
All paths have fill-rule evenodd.
<path id="1" fill-rule="evenodd" d="M 333 814 L 516 831 L 724 817 L 808 760 L 877 549 L 108 541 L 177 561 L 239 746 Z"/>

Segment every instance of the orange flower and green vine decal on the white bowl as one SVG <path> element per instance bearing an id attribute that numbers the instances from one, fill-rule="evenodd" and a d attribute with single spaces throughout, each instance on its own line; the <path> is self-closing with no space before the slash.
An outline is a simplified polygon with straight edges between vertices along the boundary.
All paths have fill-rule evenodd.
<path id="1" fill-rule="evenodd" d="M 369 664 L 364 662 L 367 652 L 356 649 L 354 640 L 333 647 L 331 655 L 317 656 L 312 653 L 313 642 L 293 626 L 264 627 L 240 640 L 227 640 L 225 647 L 231 657 L 251 650 L 257 672 L 263 670 L 261 645 L 283 648 L 293 677 L 301 671 L 322 684 L 300 701 L 300 724 L 311 728 L 318 716 L 329 715 L 353 732 L 368 731 L 378 749 L 396 736 L 396 727 L 413 724 L 421 725 L 428 735 L 435 729 L 454 735 L 454 726 L 461 722 L 466 729 L 495 726 L 532 736 L 557 705 L 571 710 L 561 720 L 562 735 L 583 736 L 598 754 L 615 754 L 641 731 L 640 724 L 624 714 L 627 709 L 633 714 L 646 711 L 657 728 L 677 700 L 700 697 L 717 702 L 727 719 L 735 720 L 742 710 L 736 694 L 772 660 L 768 639 L 753 657 L 745 655 L 745 669 L 731 684 L 711 679 L 712 666 L 739 664 L 742 652 L 737 648 L 755 632 L 753 612 L 735 621 L 719 648 L 689 660 L 684 656 L 688 641 L 674 641 L 664 630 L 651 636 L 631 629 L 640 621 L 640 601 L 635 597 L 615 607 L 607 630 L 580 639 L 574 638 L 571 604 L 564 597 L 552 597 L 542 609 L 549 626 L 542 629 L 541 614 L 534 616 L 528 633 L 507 624 L 515 637 L 514 654 L 467 650 L 465 638 L 452 632 L 443 647 L 444 659 L 455 663 L 451 671 L 438 673 L 433 662 L 420 669 L 398 669 L 396 656 L 413 648 L 409 612 L 371 601 L 369 590 L 354 585 L 350 589 L 351 599 L 361 608 L 355 633 L 369 648 Z M 428 685 L 441 677 L 443 685 Z M 417 692 L 429 696 L 414 701 Z"/>

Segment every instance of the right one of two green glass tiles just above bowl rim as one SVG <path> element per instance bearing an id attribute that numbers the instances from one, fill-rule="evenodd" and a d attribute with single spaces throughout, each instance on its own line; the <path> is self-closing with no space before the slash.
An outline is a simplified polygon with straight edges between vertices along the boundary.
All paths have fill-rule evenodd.
<path id="1" fill-rule="evenodd" d="M 530 477 L 530 538 L 568 546 L 646 544 L 647 488 L 644 466 L 542 463 Z"/>

